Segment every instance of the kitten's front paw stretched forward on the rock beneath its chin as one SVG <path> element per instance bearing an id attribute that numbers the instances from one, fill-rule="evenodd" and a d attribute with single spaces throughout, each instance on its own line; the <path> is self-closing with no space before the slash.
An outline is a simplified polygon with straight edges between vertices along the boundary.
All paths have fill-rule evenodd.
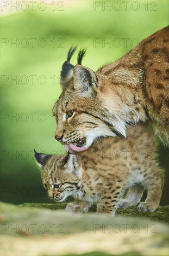
<path id="1" fill-rule="evenodd" d="M 91 204 L 89 202 L 77 201 L 77 202 L 70 202 L 66 206 L 65 210 L 69 212 L 88 212 Z"/>

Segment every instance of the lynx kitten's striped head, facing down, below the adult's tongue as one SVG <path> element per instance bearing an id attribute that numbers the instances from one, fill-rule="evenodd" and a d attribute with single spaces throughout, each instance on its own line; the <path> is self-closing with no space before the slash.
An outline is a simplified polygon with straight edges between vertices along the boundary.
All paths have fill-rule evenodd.
<path id="1" fill-rule="evenodd" d="M 42 168 L 42 181 L 50 199 L 62 202 L 78 192 L 80 169 L 75 155 L 46 155 L 35 151 L 35 159 Z"/>

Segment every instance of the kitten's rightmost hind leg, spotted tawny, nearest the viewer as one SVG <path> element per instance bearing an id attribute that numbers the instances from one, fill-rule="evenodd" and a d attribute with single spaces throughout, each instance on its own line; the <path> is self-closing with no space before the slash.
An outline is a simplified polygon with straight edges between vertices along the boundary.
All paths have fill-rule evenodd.
<path id="1" fill-rule="evenodd" d="M 140 202 L 138 205 L 139 211 L 155 211 L 160 203 L 163 189 L 163 172 L 160 168 L 152 170 L 147 174 L 145 179 L 145 187 L 147 188 L 147 198 L 145 202 Z"/>

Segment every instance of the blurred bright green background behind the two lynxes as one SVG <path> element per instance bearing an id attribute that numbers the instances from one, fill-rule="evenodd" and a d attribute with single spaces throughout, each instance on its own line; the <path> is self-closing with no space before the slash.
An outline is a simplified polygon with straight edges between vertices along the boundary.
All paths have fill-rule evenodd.
<path id="1" fill-rule="evenodd" d="M 109 2 L 111 5 L 104 7 Z M 64 153 L 54 139 L 56 123 L 51 115 L 61 93 L 59 75 L 69 47 L 88 47 L 83 64 L 97 70 L 168 25 L 168 0 L 126 2 L 46 1 L 32 10 L 28 1 L 27 10 L 24 4 L 19 11 L 4 7 L 0 27 L 2 201 L 49 202 L 33 149 Z M 76 58 L 75 54 L 74 65 Z M 159 154 L 166 170 L 161 201 L 165 205 L 169 150 L 160 144 Z"/>

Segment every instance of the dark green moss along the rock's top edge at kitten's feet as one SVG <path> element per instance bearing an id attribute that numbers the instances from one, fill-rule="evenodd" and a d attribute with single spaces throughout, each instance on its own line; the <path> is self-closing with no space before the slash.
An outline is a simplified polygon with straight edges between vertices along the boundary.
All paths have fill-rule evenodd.
<path id="1" fill-rule="evenodd" d="M 65 209 L 67 203 L 23 203 L 19 204 L 18 207 L 33 207 L 43 208 L 51 210 Z M 89 212 L 96 212 L 96 204 L 94 204 Z M 160 206 L 155 212 L 142 212 L 138 211 L 137 207 L 130 209 L 118 209 L 116 212 L 117 216 L 135 217 L 148 219 L 152 221 L 165 222 L 169 224 L 169 206 Z"/>

